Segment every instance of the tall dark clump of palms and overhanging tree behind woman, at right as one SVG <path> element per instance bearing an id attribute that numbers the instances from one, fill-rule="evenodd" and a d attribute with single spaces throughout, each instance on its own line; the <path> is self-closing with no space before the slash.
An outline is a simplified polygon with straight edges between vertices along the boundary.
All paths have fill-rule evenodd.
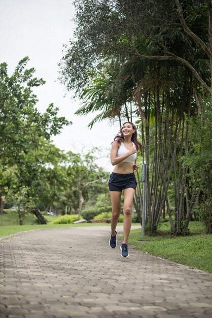
<path id="1" fill-rule="evenodd" d="M 65 46 L 60 78 L 84 100 L 77 114 L 99 111 L 91 128 L 103 119 L 137 118 L 147 163 L 147 230 L 157 230 L 166 210 L 172 231 L 186 234 L 201 191 L 184 156 L 194 151 L 191 122 L 203 115 L 202 101 L 212 92 L 210 1 L 81 0 L 75 6 L 75 40 Z"/>

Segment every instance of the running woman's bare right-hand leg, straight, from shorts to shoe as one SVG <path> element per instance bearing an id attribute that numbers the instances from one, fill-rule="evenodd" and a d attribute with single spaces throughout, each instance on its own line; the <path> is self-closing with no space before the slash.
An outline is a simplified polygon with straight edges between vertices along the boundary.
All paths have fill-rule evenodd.
<path id="1" fill-rule="evenodd" d="M 133 188 L 127 188 L 124 190 L 124 240 L 123 244 L 127 244 L 128 236 L 132 224 L 132 202 L 135 194 Z"/>

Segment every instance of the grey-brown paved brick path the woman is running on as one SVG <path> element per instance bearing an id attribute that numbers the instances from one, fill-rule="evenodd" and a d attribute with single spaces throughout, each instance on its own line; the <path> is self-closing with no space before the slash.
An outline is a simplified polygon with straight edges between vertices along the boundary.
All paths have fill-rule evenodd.
<path id="1" fill-rule="evenodd" d="M 0 317 L 212 316 L 211 274 L 132 246 L 123 259 L 120 245 L 110 248 L 109 233 L 105 226 L 81 227 L 0 240 Z"/>

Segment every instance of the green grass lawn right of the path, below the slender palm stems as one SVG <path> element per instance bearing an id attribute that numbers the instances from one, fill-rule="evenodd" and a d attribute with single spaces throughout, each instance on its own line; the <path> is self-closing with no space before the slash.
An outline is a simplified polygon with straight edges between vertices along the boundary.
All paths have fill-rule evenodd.
<path id="1" fill-rule="evenodd" d="M 160 235 L 145 236 L 144 239 L 142 230 L 132 230 L 128 243 L 163 259 L 212 272 L 212 235 L 204 234 L 200 222 L 190 222 L 191 235 L 188 236 L 171 236 L 167 234 L 167 228 L 169 229 L 168 222 L 161 225 Z"/>

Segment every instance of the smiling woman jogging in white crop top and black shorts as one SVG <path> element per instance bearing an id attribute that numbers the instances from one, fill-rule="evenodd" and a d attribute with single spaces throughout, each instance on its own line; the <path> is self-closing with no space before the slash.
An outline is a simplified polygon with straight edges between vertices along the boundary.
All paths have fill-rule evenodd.
<path id="1" fill-rule="evenodd" d="M 137 141 L 135 125 L 124 122 L 119 134 L 114 138 L 111 148 L 111 163 L 115 166 L 109 180 L 112 203 L 111 237 L 109 245 L 117 245 L 116 226 L 121 212 L 121 193 L 124 190 L 124 240 L 121 245 L 121 256 L 129 257 L 128 236 L 132 224 L 132 201 L 137 185 L 134 170 L 139 168 L 135 164 L 136 152 L 142 145 Z"/>

